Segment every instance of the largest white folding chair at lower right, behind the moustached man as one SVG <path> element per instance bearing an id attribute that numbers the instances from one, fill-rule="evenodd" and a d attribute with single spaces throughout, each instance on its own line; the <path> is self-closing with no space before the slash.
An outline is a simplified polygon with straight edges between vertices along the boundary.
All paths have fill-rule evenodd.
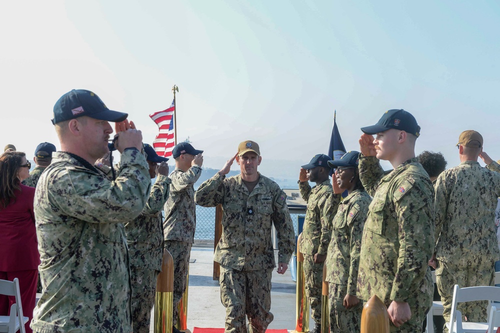
<path id="1" fill-rule="evenodd" d="M 500 301 L 500 287 L 495 286 L 473 286 L 459 288 L 458 284 L 453 287 L 453 301 L 451 303 L 451 316 L 446 323 L 449 332 L 456 333 L 484 333 L 488 328 L 487 322 L 462 322 L 462 314 L 456 309 L 457 303 L 474 300 L 496 300 Z"/>

